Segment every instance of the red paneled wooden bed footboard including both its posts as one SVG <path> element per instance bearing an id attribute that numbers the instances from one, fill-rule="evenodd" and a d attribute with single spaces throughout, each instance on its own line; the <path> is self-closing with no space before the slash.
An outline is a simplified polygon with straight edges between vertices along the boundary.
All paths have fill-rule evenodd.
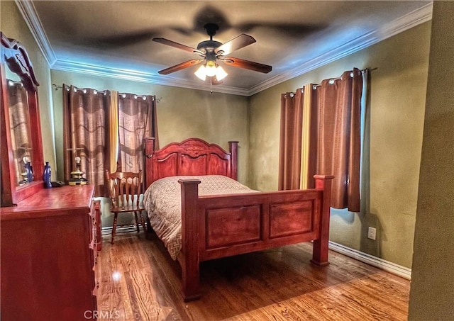
<path id="1" fill-rule="evenodd" d="M 182 179 L 182 282 L 184 300 L 196 300 L 201 261 L 314 241 L 311 262 L 328 265 L 331 179 L 316 188 L 199 196 L 197 179 Z"/>

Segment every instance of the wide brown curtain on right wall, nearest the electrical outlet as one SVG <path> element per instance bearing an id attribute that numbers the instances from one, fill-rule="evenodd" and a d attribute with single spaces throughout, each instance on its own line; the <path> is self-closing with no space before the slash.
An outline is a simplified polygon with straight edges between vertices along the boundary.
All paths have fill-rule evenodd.
<path id="1" fill-rule="evenodd" d="M 318 129 L 311 132 L 316 135 L 311 139 L 311 152 L 316 151 L 311 175 L 334 175 L 331 207 L 359 212 L 362 73 L 355 68 L 323 80 L 312 94 Z"/>

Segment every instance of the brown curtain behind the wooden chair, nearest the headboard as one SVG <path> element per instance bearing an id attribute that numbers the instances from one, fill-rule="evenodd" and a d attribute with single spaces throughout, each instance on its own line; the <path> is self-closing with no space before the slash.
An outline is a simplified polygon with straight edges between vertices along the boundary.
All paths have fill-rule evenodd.
<path id="1" fill-rule="evenodd" d="M 118 96 L 118 136 L 118 169 L 143 170 L 143 138 L 155 137 L 156 148 L 159 148 L 155 96 Z"/>

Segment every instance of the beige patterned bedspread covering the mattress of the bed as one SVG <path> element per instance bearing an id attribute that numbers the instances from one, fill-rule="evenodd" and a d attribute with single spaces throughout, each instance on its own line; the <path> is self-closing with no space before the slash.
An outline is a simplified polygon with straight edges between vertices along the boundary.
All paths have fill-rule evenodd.
<path id="1" fill-rule="evenodd" d="M 153 182 L 144 193 L 143 203 L 156 234 L 176 260 L 182 248 L 181 186 L 179 179 L 199 179 L 199 195 L 251 193 L 253 189 L 221 175 L 171 176 Z"/>

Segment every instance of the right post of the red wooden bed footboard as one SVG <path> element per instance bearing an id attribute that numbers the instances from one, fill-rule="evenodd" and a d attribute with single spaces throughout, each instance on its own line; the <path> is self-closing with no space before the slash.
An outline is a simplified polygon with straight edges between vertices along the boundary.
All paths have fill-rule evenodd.
<path id="1" fill-rule="evenodd" d="M 314 240 L 311 262 L 317 266 L 326 266 L 328 262 L 329 220 L 331 207 L 331 185 L 334 176 L 314 175 L 315 188 L 323 191 L 321 198 L 320 237 Z"/>

